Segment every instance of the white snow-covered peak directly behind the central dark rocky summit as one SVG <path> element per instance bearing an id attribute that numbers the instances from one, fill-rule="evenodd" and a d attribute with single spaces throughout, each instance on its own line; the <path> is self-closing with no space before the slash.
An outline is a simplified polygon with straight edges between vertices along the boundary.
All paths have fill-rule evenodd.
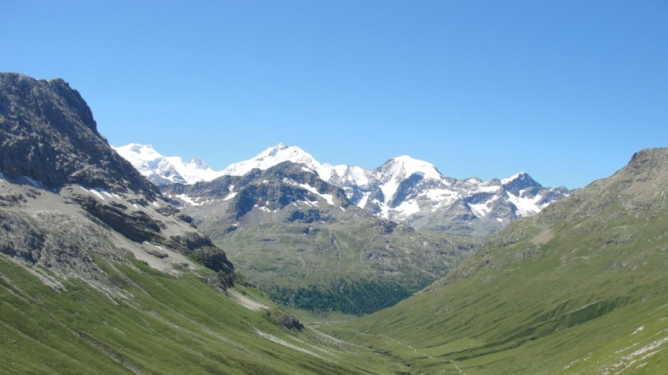
<path id="1" fill-rule="evenodd" d="M 285 161 L 306 165 L 306 167 L 316 172 L 319 172 L 322 169 L 322 165 L 318 163 L 311 154 L 301 148 L 278 144 L 277 146 L 269 147 L 262 151 L 255 156 L 255 158 L 229 165 L 221 171 L 221 174 L 243 176 L 252 169 L 259 168 L 261 170 L 266 170 Z"/>

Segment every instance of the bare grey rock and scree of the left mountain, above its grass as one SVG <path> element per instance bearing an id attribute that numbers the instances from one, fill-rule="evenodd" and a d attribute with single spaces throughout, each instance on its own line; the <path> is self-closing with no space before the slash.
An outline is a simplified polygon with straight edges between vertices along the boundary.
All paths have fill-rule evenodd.
<path id="1" fill-rule="evenodd" d="M 197 260 L 230 286 L 233 265 L 191 222 L 113 151 L 65 81 L 0 73 L 0 256 L 56 288 L 82 279 L 125 293 L 105 269 L 133 260 L 172 274 L 199 272 Z"/>

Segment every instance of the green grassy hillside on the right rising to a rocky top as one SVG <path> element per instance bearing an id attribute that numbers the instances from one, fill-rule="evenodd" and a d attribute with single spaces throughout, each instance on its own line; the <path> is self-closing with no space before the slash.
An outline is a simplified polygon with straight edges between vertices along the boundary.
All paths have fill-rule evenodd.
<path id="1" fill-rule="evenodd" d="M 426 373 L 668 373 L 668 148 L 509 225 L 335 336 Z"/>

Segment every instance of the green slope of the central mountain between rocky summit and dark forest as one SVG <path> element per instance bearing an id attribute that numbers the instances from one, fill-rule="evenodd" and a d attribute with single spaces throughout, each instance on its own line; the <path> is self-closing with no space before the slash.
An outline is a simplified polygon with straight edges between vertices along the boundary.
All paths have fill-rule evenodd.
<path id="1" fill-rule="evenodd" d="M 313 228 L 309 231 L 309 227 Z M 265 291 L 278 286 L 288 289 L 290 295 L 297 288 L 313 286 L 326 293 L 339 290 L 340 280 L 357 281 L 364 286 L 373 281 L 387 289 L 376 301 L 380 307 L 393 305 L 444 276 L 463 258 L 460 249 L 473 246 L 465 240 L 436 234 L 401 229 L 386 234 L 381 229 L 364 220 L 329 227 L 262 224 L 238 229 L 233 235 L 214 241 L 226 250 L 244 277 Z M 352 293 L 345 298 L 359 305 L 370 297 Z M 353 312 L 375 310 L 379 308 Z"/>

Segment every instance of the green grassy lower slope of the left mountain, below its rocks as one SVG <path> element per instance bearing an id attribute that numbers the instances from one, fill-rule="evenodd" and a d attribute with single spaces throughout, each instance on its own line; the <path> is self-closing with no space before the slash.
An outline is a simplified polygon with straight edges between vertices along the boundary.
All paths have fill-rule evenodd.
<path id="1" fill-rule="evenodd" d="M 56 293 L 0 256 L 3 374 L 396 374 L 391 358 L 311 329 L 292 333 L 203 284 L 142 262 L 106 265 L 131 293 L 78 281 Z M 255 300 L 262 295 L 238 287 Z M 265 305 L 270 303 L 264 300 Z M 274 340 L 274 341 L 271 341 Z M 281 343 L 277 343 L 281 341 Z"/>

